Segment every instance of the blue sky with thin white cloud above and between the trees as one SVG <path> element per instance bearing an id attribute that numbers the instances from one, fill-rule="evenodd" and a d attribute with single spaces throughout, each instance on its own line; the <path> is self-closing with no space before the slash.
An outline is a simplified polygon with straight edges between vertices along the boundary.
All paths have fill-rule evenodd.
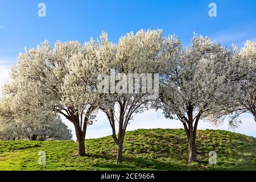
<path id="1" fill-rule="evenodd" d="M 38 4 L 45 3 L 46 17 L 38 16 Z M 209 3 L 216 3 L 217 16 L 210 17 Z M 97 38 L 102 31 L 117 42 L 126 32 L 161 28 L 164 35 L 179 36 L 184 46 L 190 44 L 193 32 L 216 39 L 226 46 L 241 47 L 245 40 L 256 40 L 256 1 L 79 1 L 79 0 L 0 0 L 0 84 L 7 78 L 11 64 L 24 47 L 36 47 L 47 39 L 79 40 Z M 256 123 L 250 115 L 236 132 L 256 137 Z M 86 138 L 111 134 L 103 114 L 88 128 Z M 68 123 L 65 121 L 65 123 Z M 68 123 L 72 128 L 72 125 Z M 161 111 L 138 114 L 128 127 L 180 128 L 177 121 L 163 117 Z M 200 129 L 216 129 L 200 122 Z M 228 130 L 228 125 L 217 127 Z"/>

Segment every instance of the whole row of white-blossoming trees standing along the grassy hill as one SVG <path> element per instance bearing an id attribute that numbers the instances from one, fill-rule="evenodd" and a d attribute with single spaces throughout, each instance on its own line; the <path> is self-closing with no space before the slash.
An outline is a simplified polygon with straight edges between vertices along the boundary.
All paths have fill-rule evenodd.
<path id="1" fill-rule="evenodd" d="M 3 86 L 0 115 L 11 122 L 13 115 L 39 119 L 46 113 L 61 114 L 73 123 L 77 156 L 84 156 L 86 129 L 101 110 L 117 144 L 117 163 L 122 163 L 126 128 L 134 115 L 162 109 L 167 118 L 183 123 L 188 161 L 193 162 L 200 119 L 219 123 L 229 115 L 230 125 L 237 125 L 241 113 L 249 112 L 255 118 L 255 59 L 256 44 L 251 41 L 238 51 L 194 34 L 192 45 L 183 48 L 179 38 L 166 37 L 161 30 L 130 32 L 116 44 L 105 33 L 83 46 L 58 41 L 52 48 L 46 41 L 20 53 L 10 81 Z M 110 75 L 111 69 L 119 77 L 158 73 L 159 97 L 152 100 L 150 93 L 142 92 L 95 92 L 97 76 Z M 110 82 L 119 87 L 115 80 Z"/>

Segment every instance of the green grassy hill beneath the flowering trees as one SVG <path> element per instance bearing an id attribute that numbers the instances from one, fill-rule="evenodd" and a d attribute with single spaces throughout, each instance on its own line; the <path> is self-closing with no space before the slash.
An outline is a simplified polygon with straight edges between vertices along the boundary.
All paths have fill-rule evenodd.
<path id="1" fill-rule="evenodd" d="M 125 137 L 123 164 L 115 164 L 112 137 L 86 140 L 87 156 L 76 157 L 71 141 L 0 141 L 0 170 L 256 170 L 256 138 L 222 130 L 199 130 L 197 159 L 187 163 L 187 139 L 181 129 L 129 131 Z M 209 151 L 217 152 L 217 165 L 208 164 Z M 46 164 L 38 164 L 38 152 L 46 152 Z"/>

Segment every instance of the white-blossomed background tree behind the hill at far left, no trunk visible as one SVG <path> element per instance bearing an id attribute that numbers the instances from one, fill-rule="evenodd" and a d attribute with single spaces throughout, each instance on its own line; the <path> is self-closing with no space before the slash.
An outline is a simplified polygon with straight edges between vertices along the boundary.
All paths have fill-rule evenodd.
<path id="1" fill-rule="evenodd" d="M 71 139 L 71 130 L 59 116 L 42 102 L 40 88 L 32 82 L 23 82 L 16 69 L 10 72 L 10 81 L 5 82 L 0 100 L 1 139 Z"/>

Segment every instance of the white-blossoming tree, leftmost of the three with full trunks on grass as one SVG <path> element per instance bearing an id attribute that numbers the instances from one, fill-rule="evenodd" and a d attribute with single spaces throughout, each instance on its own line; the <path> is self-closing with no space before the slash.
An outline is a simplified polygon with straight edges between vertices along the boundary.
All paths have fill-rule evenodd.
<path id="1" fill-rule="evenodd" d="M 85 155 L 86 128 L 92 123 L 97 109 L 97 93 L 90 89 L 97 77 L 94 76 L 97 43 L 57 41 L 52 48 L 46 41 L 36 49 L 20 53 L 18 64 L 13 69 L 15 78 L 11 87 L 18 90 L 19 113 L 27 114 L 31 107 L 40 106 L 67 118 L 75 126 L 78 142 L 77 156 Z M 26 99 L 26 96 L 28 100 Z M 33 104 L 33 102 L 38 102 Z M 28 102 L 23 105 L 23 102 Z M 22 109 L 23 107 L 23 109 Z"/>

